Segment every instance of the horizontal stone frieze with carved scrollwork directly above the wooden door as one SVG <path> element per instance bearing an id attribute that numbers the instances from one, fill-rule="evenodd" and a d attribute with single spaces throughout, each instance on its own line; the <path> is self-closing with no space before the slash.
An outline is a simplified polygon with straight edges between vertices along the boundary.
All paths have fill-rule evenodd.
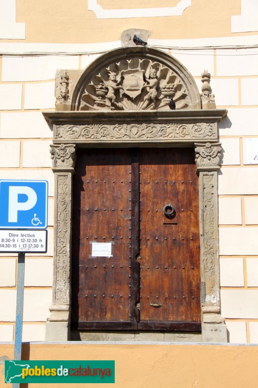
<path id="1" fill-rule="evenodd" d="M 195 124 L 89 124 L 89 125 L 56 125 L 54 127 L 55 141 L 98 142 L 119 140 L 194 140 L 216 139 L 215 123 Z M 63 145 L 62 145 L 63 146 Z M 52 155 L 56 155 L 56 152 Z M 59 152 L 61 155 L 61 152 Z M 57 159 L 57 158 L 56 158 Z"/>

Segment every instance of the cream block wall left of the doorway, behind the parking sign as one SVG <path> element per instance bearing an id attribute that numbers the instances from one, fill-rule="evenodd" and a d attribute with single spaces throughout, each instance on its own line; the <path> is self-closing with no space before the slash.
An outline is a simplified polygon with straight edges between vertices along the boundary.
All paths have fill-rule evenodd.
<path id="1" fill-rule="evenodd" d="M 78 68 L 78 57 L 67 57 Z M 55 72 L 62 57 L 3 57 L 0 60 L 0 177 L 46 179 L 49 185 L 48 249 L 26 254 L 23 341 L 45 340 L 52 303 L 54 175 L 52 131 L 43 109 L 55 108 Z M 77 67 L 76 67 L 77 66 Z M 0 341 L 14 339 L 17 255 L 0 254 Z"/>

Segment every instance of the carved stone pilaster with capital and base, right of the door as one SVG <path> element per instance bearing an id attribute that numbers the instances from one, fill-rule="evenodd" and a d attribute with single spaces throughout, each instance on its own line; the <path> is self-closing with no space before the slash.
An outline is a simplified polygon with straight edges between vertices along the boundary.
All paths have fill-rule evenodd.
<path id="1" fill-rule="evenodd" d="M 195 144 L 199 172 L 199 218 L 203 340 L 210 341 L 214 330 L 219 342 L 227 342 L 227 329 L 220 315 L 217 171 L 220 169 L 220 143 Z M 208 325 L 208 326 L 207 326 Z"/>

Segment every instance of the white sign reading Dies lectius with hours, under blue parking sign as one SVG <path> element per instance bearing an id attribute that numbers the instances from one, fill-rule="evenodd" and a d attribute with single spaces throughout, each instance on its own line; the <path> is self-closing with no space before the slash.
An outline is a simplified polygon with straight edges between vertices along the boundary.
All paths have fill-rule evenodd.
<path id="1" fill-rule="evenodd" d="M 0 252 L 46 253 L 46 230 L 0 230 Z"/>

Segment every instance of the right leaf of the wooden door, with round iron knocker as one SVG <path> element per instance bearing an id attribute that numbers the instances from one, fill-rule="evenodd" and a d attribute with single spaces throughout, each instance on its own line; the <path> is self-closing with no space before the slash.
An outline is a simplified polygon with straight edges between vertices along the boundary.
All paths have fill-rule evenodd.
<path id="1" fill-rule="evenodd" d="M 198 186 L 193 150 L 140 153 L 140 321 L 200 322 Z M 167 218 L 163 208 L 176 212 Z M 193 267 L 193 268 L 192 268 Z M 161 307 L 152 307 L 161 305 Z"/>

